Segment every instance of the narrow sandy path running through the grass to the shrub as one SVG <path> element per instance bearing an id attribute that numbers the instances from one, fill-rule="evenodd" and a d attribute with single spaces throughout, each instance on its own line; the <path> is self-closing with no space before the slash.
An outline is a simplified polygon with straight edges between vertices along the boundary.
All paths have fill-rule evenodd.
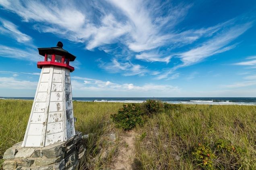
<path id="1" fill-rule="evenodd" d="M 135 158 L 135 136 L 133 130 L 124 133 L 121 138 L 118 158 L 114 164 L 115 170 L 132 170 L 132 164 Z"/>

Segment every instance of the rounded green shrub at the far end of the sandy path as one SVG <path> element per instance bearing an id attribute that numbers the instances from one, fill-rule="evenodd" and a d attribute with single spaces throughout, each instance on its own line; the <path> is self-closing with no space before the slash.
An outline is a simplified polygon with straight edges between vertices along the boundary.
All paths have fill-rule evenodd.
<path id="1" fill-rule="evenodd" d="M 123 130 L 131 130 L 136 124 L 142 125 L 142 111 L 139 104 L 125 104 L 119 109 L 118 113 L 110 115 L 111 119 L 116 123 L 116 127 Z"/>

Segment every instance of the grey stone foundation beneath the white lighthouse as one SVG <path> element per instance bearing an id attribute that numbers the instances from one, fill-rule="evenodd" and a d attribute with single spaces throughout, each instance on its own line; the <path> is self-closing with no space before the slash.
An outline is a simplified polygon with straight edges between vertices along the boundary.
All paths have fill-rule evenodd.
<path id="1" fill-rule="evenodd" d="M 82 133 L 66 142 L 39 147 L 21 147 L 19 142 L 4 153 L 4 170 L 77 170 L 85 154 Z"/>

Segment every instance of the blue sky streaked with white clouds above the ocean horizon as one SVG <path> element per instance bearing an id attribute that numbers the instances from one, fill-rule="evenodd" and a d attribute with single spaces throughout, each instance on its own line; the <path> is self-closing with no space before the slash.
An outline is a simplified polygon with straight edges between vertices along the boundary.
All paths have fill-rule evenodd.
<path id="1" fill-rule="evenodd" d="M 33 97 L 60 40 L 73 97 L 256 97 L 255 19 L 255 0 L 0 0 L 0 96 Z"/>

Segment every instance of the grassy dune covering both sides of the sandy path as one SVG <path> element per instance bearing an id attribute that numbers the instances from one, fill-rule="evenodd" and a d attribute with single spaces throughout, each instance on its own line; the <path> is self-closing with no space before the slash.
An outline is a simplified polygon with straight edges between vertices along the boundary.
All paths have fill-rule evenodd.
<path id="1" fill-rule="evenodd" d="M 0 100 L 0 165 L 5 150 L 23 140 L 32 103 Z M 73 105 L 76 130 L 89 134 L 81 167 L 113 168 L 125 132 L 110 114 L 123 103 Z M 115 142 L 109 140 L 113 132 Z M 256 169 L 256 106 L 181 105 L 154 114 L 134 132 L 138 169 Z"/>

